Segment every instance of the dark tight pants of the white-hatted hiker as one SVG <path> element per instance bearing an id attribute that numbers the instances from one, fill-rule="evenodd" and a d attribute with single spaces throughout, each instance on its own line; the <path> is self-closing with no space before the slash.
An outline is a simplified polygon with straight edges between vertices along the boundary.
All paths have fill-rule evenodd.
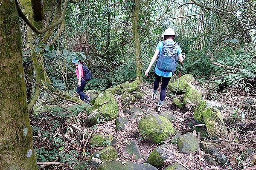
<path id="1" fill-rule="evenodd" d="M 154 90 L 157 90 L 159 86 L 159 82 L 161 81 L 161 77 L 155 74 L 155 81 L 154 81 Z M 171 77 L 162 77 L 162 85 L 161 85 L 161 93 L 160 93 L 160 100 L 163 101 L 163 99 L 166 96 L 166 88 L 170 81 Z"/>

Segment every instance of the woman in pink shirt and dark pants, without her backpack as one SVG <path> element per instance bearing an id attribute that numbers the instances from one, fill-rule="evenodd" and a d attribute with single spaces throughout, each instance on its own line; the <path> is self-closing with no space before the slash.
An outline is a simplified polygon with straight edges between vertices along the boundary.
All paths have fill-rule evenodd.
<path id="1" fill-rule="evenodd" d="M 83 62 L 82 60 L 73 59 L 72 63 L 76 65 L 76 77 L 78 79 L 76 93 L 79 94 L 81 100 L 88 102 L 88 96 L 84 94 L 84 87 L 86 82 L 84 80 Z"/>

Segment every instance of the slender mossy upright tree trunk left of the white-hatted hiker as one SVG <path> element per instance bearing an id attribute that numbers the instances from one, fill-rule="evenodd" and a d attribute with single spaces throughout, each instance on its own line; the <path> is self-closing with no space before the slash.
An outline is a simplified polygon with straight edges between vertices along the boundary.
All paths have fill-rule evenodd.
<path id="1" fill-rule="evenodd" d="M 140 85 L 142 82 L 142 60 L 140 56 L 140 35 L 138 31 L 139 8 L 139 0 L 134 0 L 134 6 L 131 11 L 131 25 L 136 59 L 136 79 Z"/>

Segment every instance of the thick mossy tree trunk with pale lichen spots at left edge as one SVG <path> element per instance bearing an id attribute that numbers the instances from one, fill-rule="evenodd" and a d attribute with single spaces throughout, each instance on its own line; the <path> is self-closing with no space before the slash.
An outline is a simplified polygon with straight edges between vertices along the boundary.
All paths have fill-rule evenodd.
<path id="1" fill-rule="evenodd" d="M 14 0 L 0 6 L 0 169 L 37 169 Z"/>

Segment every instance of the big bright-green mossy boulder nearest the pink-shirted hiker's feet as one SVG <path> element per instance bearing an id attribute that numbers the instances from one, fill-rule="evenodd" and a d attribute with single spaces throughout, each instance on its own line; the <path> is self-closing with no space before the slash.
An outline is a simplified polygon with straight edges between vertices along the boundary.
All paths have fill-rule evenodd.
<path id="1" fill-rule="evenodd" d="M 99 122 L 100 117 L 103 117 L 105 121 L 113 120 L 118 116 L 118 110 L 119 108 L 115 96 L 107 91 L 102 92 L 97 96 L 93 107 L 89 110 L 89 124 L 95 125 L 102 122 Z M 93 114 L 93 116 L 91 114 Z M 98 121 L 96 122 L 96 120 Z"/>

